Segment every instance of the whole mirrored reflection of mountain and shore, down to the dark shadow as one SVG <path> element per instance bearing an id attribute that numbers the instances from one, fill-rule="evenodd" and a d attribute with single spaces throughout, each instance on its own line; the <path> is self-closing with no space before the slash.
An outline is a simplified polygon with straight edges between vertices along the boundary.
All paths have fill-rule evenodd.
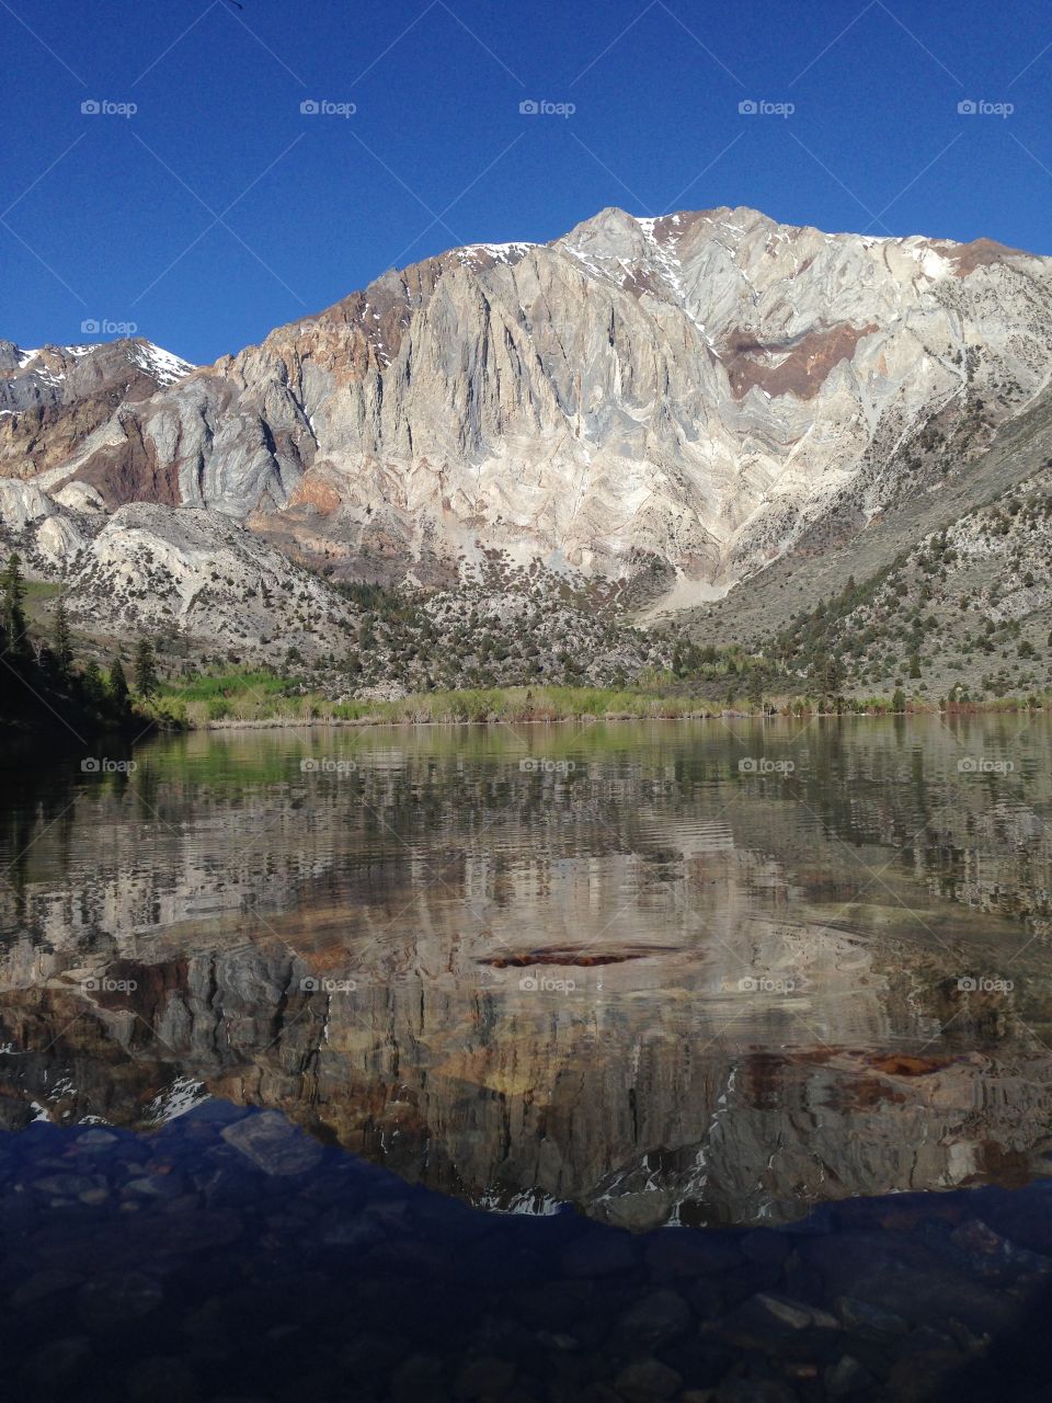
<path id="1" fill-rule="evenodd" d="M 210 1093 L 477 1207 L 631 1229 L 1023 1184 L 1052 1124 L 1051 742 L 313 730 L 27 767 L 3 1124 L 143 1129 Z"/>

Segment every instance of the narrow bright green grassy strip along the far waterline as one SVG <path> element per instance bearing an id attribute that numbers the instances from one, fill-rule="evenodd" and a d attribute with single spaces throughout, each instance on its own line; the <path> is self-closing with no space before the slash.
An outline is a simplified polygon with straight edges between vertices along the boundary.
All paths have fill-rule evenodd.
<path id="1" fill-rule="evenodd" d="M 397 699 L 334 702 L 303 690 L 296 682 L 262 672 L 229 672 L 166 683 L 149 703 L 161 725 L 189 730 L 264 725 L 403 725 L 459 723 L 544 723 L 571 720 L 692 720 L 902 713 L 1025 711 L 1044 709 L 1045 694 L 999 697 L 975 703 L 937 703 L 920 697 L 844 697 L 839 706 L 819 697 L 773 696 L 762 703 L 745 699 L 721 703 L 683 687 L 485 687 L 425 692 Z"/>

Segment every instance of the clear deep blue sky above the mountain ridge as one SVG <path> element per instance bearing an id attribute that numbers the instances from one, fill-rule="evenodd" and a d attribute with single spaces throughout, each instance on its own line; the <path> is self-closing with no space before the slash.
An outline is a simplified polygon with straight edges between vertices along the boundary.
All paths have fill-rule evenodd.
<path id="1" fill-rule="evenodd" d="M 135 323 L 208 362 L 393 264 L 606 205 L 1052 253 L 1046 4 L 243 4 L 0 0 L 0 335 Z"/>

